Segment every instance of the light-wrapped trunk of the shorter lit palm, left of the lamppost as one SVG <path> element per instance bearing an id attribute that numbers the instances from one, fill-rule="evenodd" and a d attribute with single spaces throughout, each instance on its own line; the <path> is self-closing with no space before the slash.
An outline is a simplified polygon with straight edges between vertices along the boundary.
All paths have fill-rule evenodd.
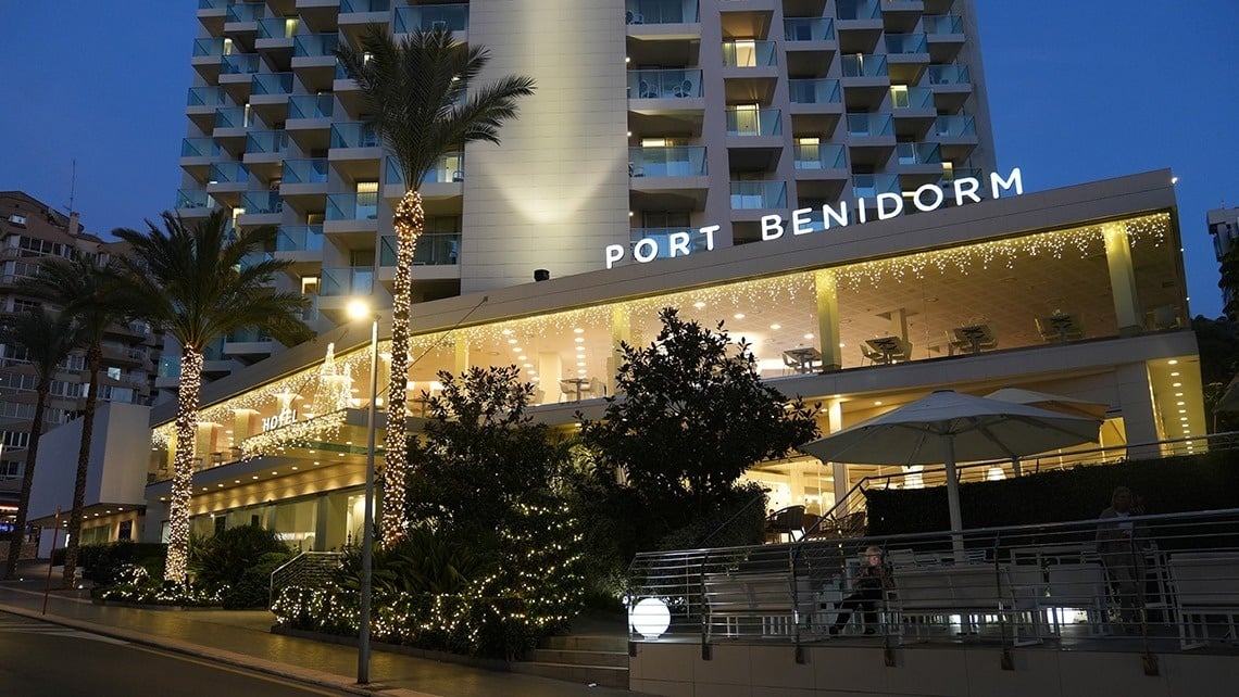
<path id="1" fill-rule="evenodd" d="M 186 582 L 190 562 L 190 494 L 193 489 L 193 448 L 198 435 L 198 391 L 203 355 L 196 347 L 181 350 L 181 379 L 176 394 L 176 457 L 167 504 L 167 562 L 164 579 Z"/>

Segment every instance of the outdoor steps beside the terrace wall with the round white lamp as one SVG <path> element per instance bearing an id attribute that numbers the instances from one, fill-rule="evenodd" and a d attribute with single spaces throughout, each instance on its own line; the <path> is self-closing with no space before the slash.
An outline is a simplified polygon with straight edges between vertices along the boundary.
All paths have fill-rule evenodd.
<path id="1" fill-rule="evenodd" d="M 510 666 L 513 672 L 627 690 L 628 638 L 621 633 L 551 636 L 529 660 Z"/>

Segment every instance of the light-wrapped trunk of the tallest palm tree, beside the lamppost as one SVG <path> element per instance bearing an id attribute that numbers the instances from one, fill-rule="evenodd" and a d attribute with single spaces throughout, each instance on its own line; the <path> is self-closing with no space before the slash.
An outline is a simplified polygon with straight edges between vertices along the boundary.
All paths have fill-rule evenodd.
<path id="1" fill-rule="evenodd" d="M 409 316 L 413 302 L 413 256 L 425 228 L 421 194 L 404 192 L 393 215 L 395 227 L 395 279 L 392 291 L 392 379 L 388 384 L 388 427 L 383 438 L 383 543 L 404 536 L 405 477 L 409 453 L 404 401 L 409 381 Z"/>

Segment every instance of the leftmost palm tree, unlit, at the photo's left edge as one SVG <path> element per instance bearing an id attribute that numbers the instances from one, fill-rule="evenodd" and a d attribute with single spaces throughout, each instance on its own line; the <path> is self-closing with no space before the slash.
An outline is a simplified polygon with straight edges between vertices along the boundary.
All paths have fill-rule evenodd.
<path id="1" fill-rule="evenodd" d="M 41 307 L 7 317 L 0 324 L 0 342 L 25 349 L 26 358 L 38 383 L 35 386 L 35 416 L 30 423 L 30 442 L 26 448 L 26 468 L 21 473 L 21 498 L 17 500 L 17 521 L 14 524 L 12 540 L 9 542 L 9 560 L 5 563 L 5 578 L 12 578 L 17 571 L 17 557 L 26 532 L 26 515 L 30 509 L 30 487 L 35 482 L 35 461 L 38 458 L 38 439 L 43 435 L 43 412 L 47 409 L 47 394 L 57 366 L 69 352 L 85 342 L 82 327 L 66 313 L 48 314 Z"/>

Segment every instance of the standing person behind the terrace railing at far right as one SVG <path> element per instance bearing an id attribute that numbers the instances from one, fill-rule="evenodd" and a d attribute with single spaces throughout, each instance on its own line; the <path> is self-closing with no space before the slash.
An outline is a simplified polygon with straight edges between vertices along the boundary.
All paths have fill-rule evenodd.
<path id="1" fill-rule="evenodd" d="M 1101 556 L 1110 583 L 1119 599 L 1119 618 L 1127 630 L 1140 621 L 1145 605 L 1145 548 L 1149 535 L 1144 525 L 1131 520 L 1144 515 L 1144 504 L 1131 489 L 1118 487 L 1110 494 L 1110 508 L 1098 515 L 1097 551 Z"/>

